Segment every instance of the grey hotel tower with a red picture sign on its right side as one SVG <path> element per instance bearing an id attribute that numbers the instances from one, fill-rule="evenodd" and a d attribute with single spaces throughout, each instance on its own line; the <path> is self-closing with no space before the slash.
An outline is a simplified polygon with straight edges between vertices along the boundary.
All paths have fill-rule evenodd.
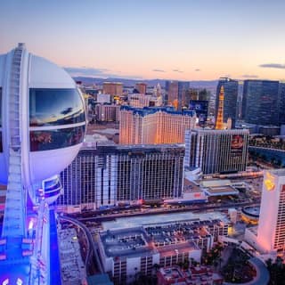
<path id="1" fill-rule="evenodd" d="M 246 170 L 248 130 L 195 129 L 185 134 L 185 167 L 204 175 Z"/>

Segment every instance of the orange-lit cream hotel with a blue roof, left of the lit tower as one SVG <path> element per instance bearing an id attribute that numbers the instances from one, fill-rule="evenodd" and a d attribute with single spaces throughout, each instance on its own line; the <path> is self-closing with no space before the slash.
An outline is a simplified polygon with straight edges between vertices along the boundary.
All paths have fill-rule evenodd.
<path id="1" fill-rule="evenodd" d="M 192 110 L 135 109 L 122 106 L 119 122 L 119 143 L 183 143 L 185 131 L 194 128 L 195 125 L 196 113 Z"/>

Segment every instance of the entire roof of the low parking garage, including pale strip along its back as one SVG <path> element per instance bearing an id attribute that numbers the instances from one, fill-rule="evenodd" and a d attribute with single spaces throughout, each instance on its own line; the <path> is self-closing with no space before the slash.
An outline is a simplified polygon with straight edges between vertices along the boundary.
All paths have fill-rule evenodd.
<path id="1" fill-rule="evenodd" d="M 138 217 L 127 217 L 124 220 L 126 224 L 103 223 L 104 232 L 100 233 L 99 243 L 104 250 L 104 256 L 150 256 L 155 253 L 160 253 L 160 256 L 173 256 L 200 250 L 196 243 L 209 239 L 215 225 L 224 225 L 224 222 L 228 221 L 225 216 L 217 213 L 199 216 L 191 212 L 183 213 L 183 216 L 179 214 L 181 213 L 173 216 L 174 220 L 168 221 L 165 221 L 166 218 L 158 221 L 156 216 L 148 216 L 144 217 L 148 219 L 148 223 L 143 223 L 143 219 Z"/>

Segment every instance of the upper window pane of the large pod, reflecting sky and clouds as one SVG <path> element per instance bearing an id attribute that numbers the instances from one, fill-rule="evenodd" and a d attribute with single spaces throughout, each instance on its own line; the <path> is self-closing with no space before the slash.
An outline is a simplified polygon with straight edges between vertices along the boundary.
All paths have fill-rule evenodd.
<path id="1" fill-rule="evenodd" d="M 85 106 L 77 89 L 29 89 L 29 126 L 85 122 Z"/>

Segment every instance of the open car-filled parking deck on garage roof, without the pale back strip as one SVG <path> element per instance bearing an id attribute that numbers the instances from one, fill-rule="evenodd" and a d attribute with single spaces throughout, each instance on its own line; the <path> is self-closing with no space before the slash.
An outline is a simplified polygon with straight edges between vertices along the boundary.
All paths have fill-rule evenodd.
<path id="1" fill-rule="evenodd" d="M 136 227 L 108 230 L 101 232 L 100 238 L 106 256 L 148 256 L 151 251 L 158 251 L 161 256 L 169 256 L 180 252 L 199 250 L 199 247 L 191 240 L 199 240 L 201 236 L 208 236 L 203 225 L 169 224 L 145 229 Z"/>

